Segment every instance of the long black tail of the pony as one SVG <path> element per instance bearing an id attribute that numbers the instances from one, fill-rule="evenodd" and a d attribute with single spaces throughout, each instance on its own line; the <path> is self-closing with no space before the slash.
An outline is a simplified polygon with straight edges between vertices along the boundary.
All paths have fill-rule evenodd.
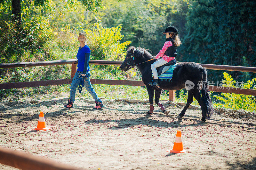
<path id="1" fill-rule="evenodd" d="M 204 102 L 204 111 L 206 113 L 206 119 L 210 119 L 212 114 L 214 113 L 214 110 L 212 108 L 212 100 L 208 93 L 208 81 L 207 81 L 207 71 L 205 68 L 202 70 L 203 73 L 203 79 L 202 79 L 202 98 Z"/>

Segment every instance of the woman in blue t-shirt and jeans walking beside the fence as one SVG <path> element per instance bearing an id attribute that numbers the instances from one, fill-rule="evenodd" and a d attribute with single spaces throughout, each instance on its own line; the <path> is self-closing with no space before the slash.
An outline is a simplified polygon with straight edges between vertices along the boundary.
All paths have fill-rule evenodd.
<path id="1" fill-rule="evenodd" d="M 68 104 L 63 108 L 64 109 L 73 108 L 74 102 L 75 102 L 75 96 L 76 96 L 76 88 L 78 87 L 81 78 L 84 77 L 84 87 L 92 95 L 96 103 L 96 107 L 94 107 L 93 109 L 102 109 L 103 108 L 102 101 L 97 96 L 94 89 L 92 88 L 91 81 L 89 78 L 91 76 L 90 67 L 89 67 L 91 50 L 89 46 L 85 43 L 85 40 L 86 40 L 85 33 L 80 32 L 78 35 L 78 40 L 80 43 L 80 47 L 76 54 L 76 58 L 78 60 L 77 71 L 70 86 L 70 99 L 68 100 Z"/>

